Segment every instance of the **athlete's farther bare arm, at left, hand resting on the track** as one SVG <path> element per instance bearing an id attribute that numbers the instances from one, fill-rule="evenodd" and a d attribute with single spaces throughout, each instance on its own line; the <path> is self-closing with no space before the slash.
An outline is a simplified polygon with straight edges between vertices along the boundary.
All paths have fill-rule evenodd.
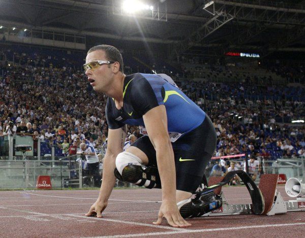
<path id="1" fill-rule="evenodd" d="M 108 198 L 115 184 L 114 168 L 116 156 L 123 151 L 123 146 L 126 137 L 126 126 L 118 129 L 108 130 L 107 150 L 103 164 L 103 182 L 100 189 L 100 194 L 97 201 L 92 205 L 86 216 L 92 216 L 95 213 L 97 217 L 102 217 L 101 213 L 107 206 Z"/>

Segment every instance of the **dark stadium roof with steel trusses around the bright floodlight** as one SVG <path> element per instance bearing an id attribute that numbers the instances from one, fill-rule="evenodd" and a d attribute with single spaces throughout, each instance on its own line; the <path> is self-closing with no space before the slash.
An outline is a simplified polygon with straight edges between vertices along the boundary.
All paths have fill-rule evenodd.
<path id="1" fill-rule="evenodd" d="M 304 0 L 139 1 L 154 10 L 132 15 L 123 0 L 0 0 L 0 25 L 169 44 L 171 57 L 305 51 Z"/>

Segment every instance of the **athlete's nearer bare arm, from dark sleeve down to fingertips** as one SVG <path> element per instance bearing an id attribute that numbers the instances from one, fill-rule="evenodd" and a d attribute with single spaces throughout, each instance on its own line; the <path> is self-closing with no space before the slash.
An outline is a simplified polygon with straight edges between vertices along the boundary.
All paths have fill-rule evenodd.
<path id="1" fill-rule="evenodd" d="M 150 109 L 143 115 L 145 128 L 157 156 L 158 170 L 162 184 L 162 205 L 158 221 L 164 216 L 171 226 L 189 226 L 180 215 L 176 205 L 176 171 L 174 153 L 167 131 L 167 115 L 164 105 Z"/>

